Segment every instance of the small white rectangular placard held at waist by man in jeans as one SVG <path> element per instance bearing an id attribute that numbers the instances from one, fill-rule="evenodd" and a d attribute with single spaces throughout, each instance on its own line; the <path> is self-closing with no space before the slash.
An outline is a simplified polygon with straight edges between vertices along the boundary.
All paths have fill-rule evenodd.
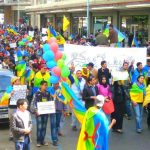
<path id="1" fill-rule="evenodd" d="M 42 114 L 53 114 L 56 112 L 55 101 L 38 102 L 37 103 L 38 113 Z"/>

